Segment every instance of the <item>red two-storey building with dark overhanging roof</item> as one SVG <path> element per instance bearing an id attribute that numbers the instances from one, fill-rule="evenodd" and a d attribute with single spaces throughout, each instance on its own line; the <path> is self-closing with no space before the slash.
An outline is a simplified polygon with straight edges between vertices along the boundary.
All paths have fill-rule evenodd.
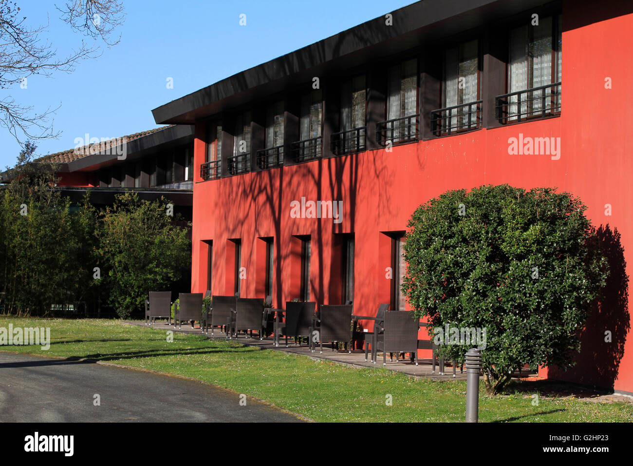
<path id="1" fill-rule="evenodd" d="M 632 12 L 424 0 L 156 108 L 157 123 L 195 126 L 192 291 L 404 309 L 418 205 L 555 186 L 613 253 L 578 365 L 541 373 L 633 392 Z"/>

